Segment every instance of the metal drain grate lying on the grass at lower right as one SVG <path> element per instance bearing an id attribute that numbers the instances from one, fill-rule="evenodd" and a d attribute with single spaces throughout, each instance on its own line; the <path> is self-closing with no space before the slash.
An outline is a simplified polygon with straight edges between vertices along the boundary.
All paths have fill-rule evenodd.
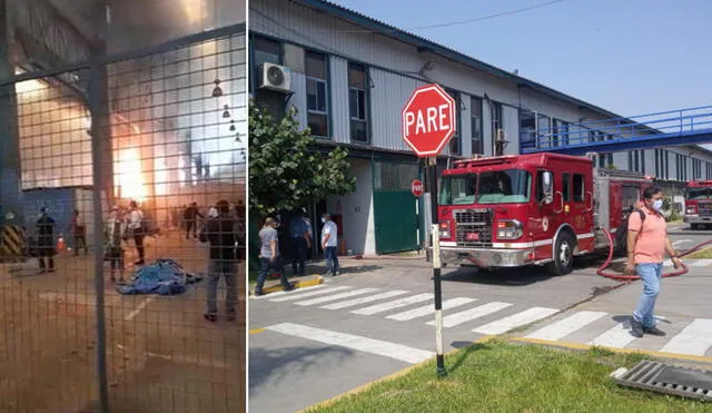
<path id="1" fill-rule="evenodd" d="M 612 376 L 623 386 L 712 402 L 710 371 L 642 361 L 629 371 L 615 371 Z"/>

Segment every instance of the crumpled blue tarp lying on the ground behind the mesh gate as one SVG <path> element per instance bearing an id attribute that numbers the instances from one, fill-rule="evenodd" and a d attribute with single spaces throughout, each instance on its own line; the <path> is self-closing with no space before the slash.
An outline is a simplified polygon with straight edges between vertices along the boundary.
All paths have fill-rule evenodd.
<path id="1" fill-rule="evenodd" d="M 117 291 L 120 294 L 176 295 L 185 293 L 189 284 L 200 279 L 202 276 L 186 273 L 177 262 L 159 258 L 136 272 L 129 284 Z"/>

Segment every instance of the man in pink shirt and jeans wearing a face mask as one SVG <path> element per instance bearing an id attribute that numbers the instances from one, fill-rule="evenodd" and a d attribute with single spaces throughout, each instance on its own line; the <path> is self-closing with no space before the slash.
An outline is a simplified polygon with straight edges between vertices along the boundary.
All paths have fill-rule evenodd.
<path id="1" fill-rule="evenodd" d="M 631 333 L 642 337 L 643 333 L 663 336 L 655 327 L 655 299 L 660 293 L 660 279 L 663 273 L 665 252 L 672 258 L 675 267 L 680 266 L 680 258 L 668 237 L 668 224 L 662 215 L 663 193 L 660 188 L 649 187 L 643 191 L 643 207 L 641 214 L 633 212 L 627 224 L 627 265 L 626 273 L 635 273 L 643 281 L 643 295 L 631 319 Z"/>

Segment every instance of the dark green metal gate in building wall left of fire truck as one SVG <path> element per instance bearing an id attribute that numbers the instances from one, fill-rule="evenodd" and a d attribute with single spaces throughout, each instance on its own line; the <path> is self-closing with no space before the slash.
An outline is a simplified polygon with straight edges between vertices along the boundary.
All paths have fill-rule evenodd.
<path id="1" fill-rule="evenodd" d="M 417 164 L 376 161 L 374 165 L 374 226 L 376 254 L 414 250 L 419 245 L 418 199 L 411 183 Z"/>

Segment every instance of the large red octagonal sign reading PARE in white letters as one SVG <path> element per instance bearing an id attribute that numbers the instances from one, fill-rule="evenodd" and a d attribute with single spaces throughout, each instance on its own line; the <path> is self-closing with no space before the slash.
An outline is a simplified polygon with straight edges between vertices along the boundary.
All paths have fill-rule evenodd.
<path id="1" fill-rule="evenodd" d="M 403 140 L 418 157 L 437 156 L 455 135 L 455 100 L 437 85 L 415 89 L 403 109 Z"/>

